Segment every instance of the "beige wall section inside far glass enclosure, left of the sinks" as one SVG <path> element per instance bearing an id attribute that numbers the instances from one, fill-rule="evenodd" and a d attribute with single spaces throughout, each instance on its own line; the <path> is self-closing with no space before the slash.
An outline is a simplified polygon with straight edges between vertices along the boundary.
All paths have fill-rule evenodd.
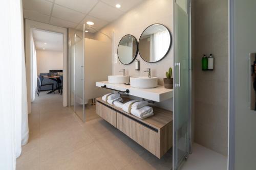
<path id="1" fill-rule="evenodd" d="M 110 42 L 85 38 L 84 43 L 84 91 L 86 100 L 89 100 L 109 92 L 96 87 L 95 82 L 106 81 L 112 74 L 112 50 Z"/>

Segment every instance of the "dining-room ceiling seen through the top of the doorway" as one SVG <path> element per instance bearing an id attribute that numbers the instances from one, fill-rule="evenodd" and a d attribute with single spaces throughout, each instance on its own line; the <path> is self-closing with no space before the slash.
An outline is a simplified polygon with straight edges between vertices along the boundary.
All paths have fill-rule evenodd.
<path id="1" fill-rule="evenodd" d="M 36 50 L 63 51 L 63 35 L 61 33 L 33 29 L 33 38 Z M 47 43 L 47 44 L 45 44 Z"/>

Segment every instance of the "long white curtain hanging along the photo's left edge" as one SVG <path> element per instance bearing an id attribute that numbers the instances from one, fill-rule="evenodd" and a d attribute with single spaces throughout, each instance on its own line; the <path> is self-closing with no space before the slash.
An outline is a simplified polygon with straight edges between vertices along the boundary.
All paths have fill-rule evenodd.
<path id="1" fill-rule="evenodd" d="M 22 3 L 2 0 L 0 6 L 0 169 L 15 169 L 27 128 L 27 108 L 24 94 L 26 79 L 23 39 Z M 25 88 L 24 88 L 25 86 Z M 24 122 L 22 122 L 25 120 Z M 26 132 L 28 134 L 28 131 Z"/>

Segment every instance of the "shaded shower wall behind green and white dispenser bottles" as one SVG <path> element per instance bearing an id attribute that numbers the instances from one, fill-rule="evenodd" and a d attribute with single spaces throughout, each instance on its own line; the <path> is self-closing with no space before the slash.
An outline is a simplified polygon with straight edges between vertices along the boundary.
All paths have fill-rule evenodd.
<path id="1" fill-rule="evenodd" d="M 227 155 L 228 0 L 192 2 L 194 140 Z M 202 55 L 210 53 L 215 69 L 202 71 Z"/>

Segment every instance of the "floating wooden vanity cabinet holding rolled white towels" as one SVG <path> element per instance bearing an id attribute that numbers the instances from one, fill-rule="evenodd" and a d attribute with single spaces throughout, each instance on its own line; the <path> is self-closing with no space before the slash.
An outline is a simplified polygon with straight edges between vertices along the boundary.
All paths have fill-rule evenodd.
<path id="1" fill-rule="evenodd" d="M 173 112 L 157 107 L 153 109 L 154 116 L 140 119 L 102 101 L 101 98 L 96 99 L 96 113 L 100 117 L 161 158 L 173 147 Z"/>

